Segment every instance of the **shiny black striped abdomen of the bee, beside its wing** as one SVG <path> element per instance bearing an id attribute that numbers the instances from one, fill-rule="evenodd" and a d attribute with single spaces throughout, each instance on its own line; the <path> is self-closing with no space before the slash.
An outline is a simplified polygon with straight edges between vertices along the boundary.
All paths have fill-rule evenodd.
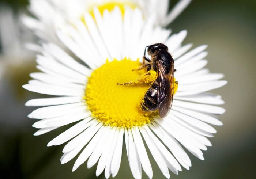
<path id="1" fill-rule="evenodd" d="M 142 111 L 155 111 L 158 109 L 158 81 L 157 78 L 143 97 L 143 102 L 140 104 Z"/>

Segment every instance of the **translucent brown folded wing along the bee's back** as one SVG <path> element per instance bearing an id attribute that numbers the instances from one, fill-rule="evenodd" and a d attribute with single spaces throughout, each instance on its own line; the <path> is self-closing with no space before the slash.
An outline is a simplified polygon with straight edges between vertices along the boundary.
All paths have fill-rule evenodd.
<path id="1" fill-rule="evenodd" d="M 163 68 L 163 63 L 157 61 L 158 65 L 158 104 L 159 104 L 159 115 L 161 118 L 166 117 L 172 107 L 173 101 L 173 68 L 171 65 L 170 73 L 166 74 Z"/>

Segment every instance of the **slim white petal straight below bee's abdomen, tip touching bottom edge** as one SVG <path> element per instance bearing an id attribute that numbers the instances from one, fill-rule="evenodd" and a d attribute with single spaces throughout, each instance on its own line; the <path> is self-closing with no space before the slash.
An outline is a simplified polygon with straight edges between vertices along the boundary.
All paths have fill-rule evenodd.
<path id="1" fill-rule="evenodd" d="M 152 177 L 153 177 L 152 167 L 151 167 L 150 161 L 148 159 L 148 155 L 147 155 L 145 146 L 143 144 L 142 138 L 140 136 L 139 129 L 137 127 L 132 128 L 132 135 L 133 135 L 133 139 L 134 139 L 136 149 L 137 149 L 138 154 L 139 154 L 139 158 L 140 158 L 140 162 L 142 164 L 142 168 L 145 171 L 145 173 L 147 174 L 147 176 L 150 179 L 152 179 Z"/>

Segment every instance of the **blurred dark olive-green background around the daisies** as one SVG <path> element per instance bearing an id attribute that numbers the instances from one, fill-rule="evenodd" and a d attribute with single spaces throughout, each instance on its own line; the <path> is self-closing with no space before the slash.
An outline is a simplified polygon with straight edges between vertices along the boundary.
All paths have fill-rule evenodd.
<path id="1" fill-rule="evenodd" d="M 171 7 L 178 0 L 171 1 Z M 0 0 L 10 4 L 15 12 L 25 8 L 26 0 Z M 228 84 L 212 92 L 222 95 L 226 113 L 220 117 L 223 126 L 215 127 L 212 147 L 204 151 L 205 161 L 189 155 L 192 167 L 183 168 L 173 179 L 251 179 L 256 171 L 256 2 L 255 0 L 194 0 L 170 25 L 174 33 L 187 29 L 184 44 L 194 47 L 208 44 L 207 68 L 211 72 L 225 73 Z M 1 48 L 0 48 L 1 49 Z M 1 51 L 0 51 L 1 52 Z M 41 97 L 21 88 L 34 72 L 35 62 L 19 66 L 10 65 L 0 84 L 0 178 L 53 179 L 95 177 L 95 167 L 88 170 L 83 164 L 71 172 L 74 159 L 61 165 L 63 145 L 46 147 L 46 144 L 69 126 L 42 136 L 28 119 L 33 108 L 24 103 Z M 148 155 L 151 157 L 150 153 Z M 152 158 L 152 157 L 151 157 Z M 153 178 L 165 178 L 154 160 Z M 100 175 L 98 178 L 104 178 Z M 116 179 L 132 178 L 125 148 L 121 168 Z M 147 178 L 143 174 L 143 178 Z"/>

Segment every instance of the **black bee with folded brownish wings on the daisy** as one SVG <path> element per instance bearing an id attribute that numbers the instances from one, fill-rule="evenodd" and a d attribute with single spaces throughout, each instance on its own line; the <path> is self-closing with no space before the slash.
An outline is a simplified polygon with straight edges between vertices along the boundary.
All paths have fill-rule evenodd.
<path id="1" fill-rule="evenodd" d="M 151 59 L 146 56 L 146 49 Z M 174 93 L 173 73 L 176 71 L 174 69 L 174 60 L 168 52 L 168 47 L 162 43 L 146 46 L 143 65 L 135 70 L 145 68 L 147 68 L 147 71 L 154 70 L 157 72 L 158 77 L 144 95 L 139 108 L 148 112 L 159 110 L 160 117 L 166 117 L 172 107 Z M 178 84 L 178 82 L 176 83 Z M 126 84 L 129 83 L 124 83 L 124 85 Z"/>

